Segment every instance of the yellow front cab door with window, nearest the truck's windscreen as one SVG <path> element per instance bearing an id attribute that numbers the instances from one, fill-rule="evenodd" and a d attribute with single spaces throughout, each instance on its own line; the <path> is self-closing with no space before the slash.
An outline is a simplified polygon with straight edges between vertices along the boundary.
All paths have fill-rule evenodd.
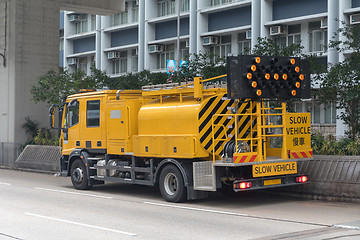
<path id="1" fill-rule="evenodd" d="M 69 155 L 80 142 L 79 101 L 72 100 L 65 106 L 62 136 L 63 155 Z"/>

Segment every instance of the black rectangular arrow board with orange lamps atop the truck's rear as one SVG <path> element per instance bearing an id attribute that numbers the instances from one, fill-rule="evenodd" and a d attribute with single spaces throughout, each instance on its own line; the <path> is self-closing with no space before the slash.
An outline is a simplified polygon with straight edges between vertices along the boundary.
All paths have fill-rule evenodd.
<path id="1" fill-rule="evenodd" d="M 299 57 L 240 55 L 227 58 L 231 99 L 292 99 L 310 96 L 310 63 Z"/>

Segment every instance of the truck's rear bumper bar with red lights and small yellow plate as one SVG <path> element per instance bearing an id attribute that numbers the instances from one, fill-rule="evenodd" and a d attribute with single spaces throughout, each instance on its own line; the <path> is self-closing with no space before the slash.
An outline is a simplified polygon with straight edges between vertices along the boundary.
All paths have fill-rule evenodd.
<path id="1" fill-rule="evenodd" d="M 259 190 L 259 189 L 266 189 L 266 188 L 276 188 L 276 187 L 288 187 L 288 186 L 295 186 L 295 185 L 303 185 L 309 182 L 297 182 L 296 178 L 300 176 L 306 175 L 284 175 L 284 176 L 273 176 L 273 177 L 264 177 L 264 178 L 252 178 L 246 180 L 235 180 L 233 183 L 233 189 L 235 192 L 241 191 L 250 191 L 250 190 Z M 251 183 L 251 187 L 241 189 L 240 183 Z M 248 186 L 248 185 L 247 185 Z"/>

